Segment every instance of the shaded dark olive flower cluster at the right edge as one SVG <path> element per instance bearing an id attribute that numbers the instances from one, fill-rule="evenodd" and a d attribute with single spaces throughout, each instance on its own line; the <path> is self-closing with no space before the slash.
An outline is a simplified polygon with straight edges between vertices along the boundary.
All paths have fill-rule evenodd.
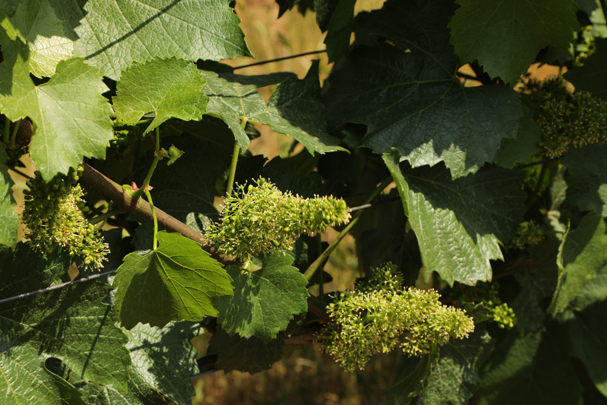
<path id="1" fill-rule="evenodd" d="M 527 104 L 543 132 L 540 145 L 548 158 L 563 155 L 570 146 L 607 140 L 606 101 L 588 92 L 570 93 L 561 77 L 529 82 L 527 89 Z"/>

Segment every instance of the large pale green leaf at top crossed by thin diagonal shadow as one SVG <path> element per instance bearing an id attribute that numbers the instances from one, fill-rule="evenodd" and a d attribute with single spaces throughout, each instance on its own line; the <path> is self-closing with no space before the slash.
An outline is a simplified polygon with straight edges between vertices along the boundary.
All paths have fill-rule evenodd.
<path id="1" fill-rule="evenodd" d="M 253 56 L 228 0 L 89 0 L 76 27 L 74 55 L 120 79 L 134 61 Z"/>

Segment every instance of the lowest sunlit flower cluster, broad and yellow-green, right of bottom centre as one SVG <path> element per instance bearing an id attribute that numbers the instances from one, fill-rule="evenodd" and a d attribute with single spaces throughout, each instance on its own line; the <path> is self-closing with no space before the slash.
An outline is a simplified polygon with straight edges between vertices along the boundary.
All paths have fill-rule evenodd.
<path id="1" fill-rule="evenodd" d="M 368 281 L 334 297 L 331 323 L 317 336 L 344 369 L 363 369 L 375 353 L 399 345 L 407 355 L 429 353 L 433 345 L 464 338 L 474 330 L 466 312 L 440 303 L 435 290 L 404 289 L 396 266 L 384 264 Z"/>

